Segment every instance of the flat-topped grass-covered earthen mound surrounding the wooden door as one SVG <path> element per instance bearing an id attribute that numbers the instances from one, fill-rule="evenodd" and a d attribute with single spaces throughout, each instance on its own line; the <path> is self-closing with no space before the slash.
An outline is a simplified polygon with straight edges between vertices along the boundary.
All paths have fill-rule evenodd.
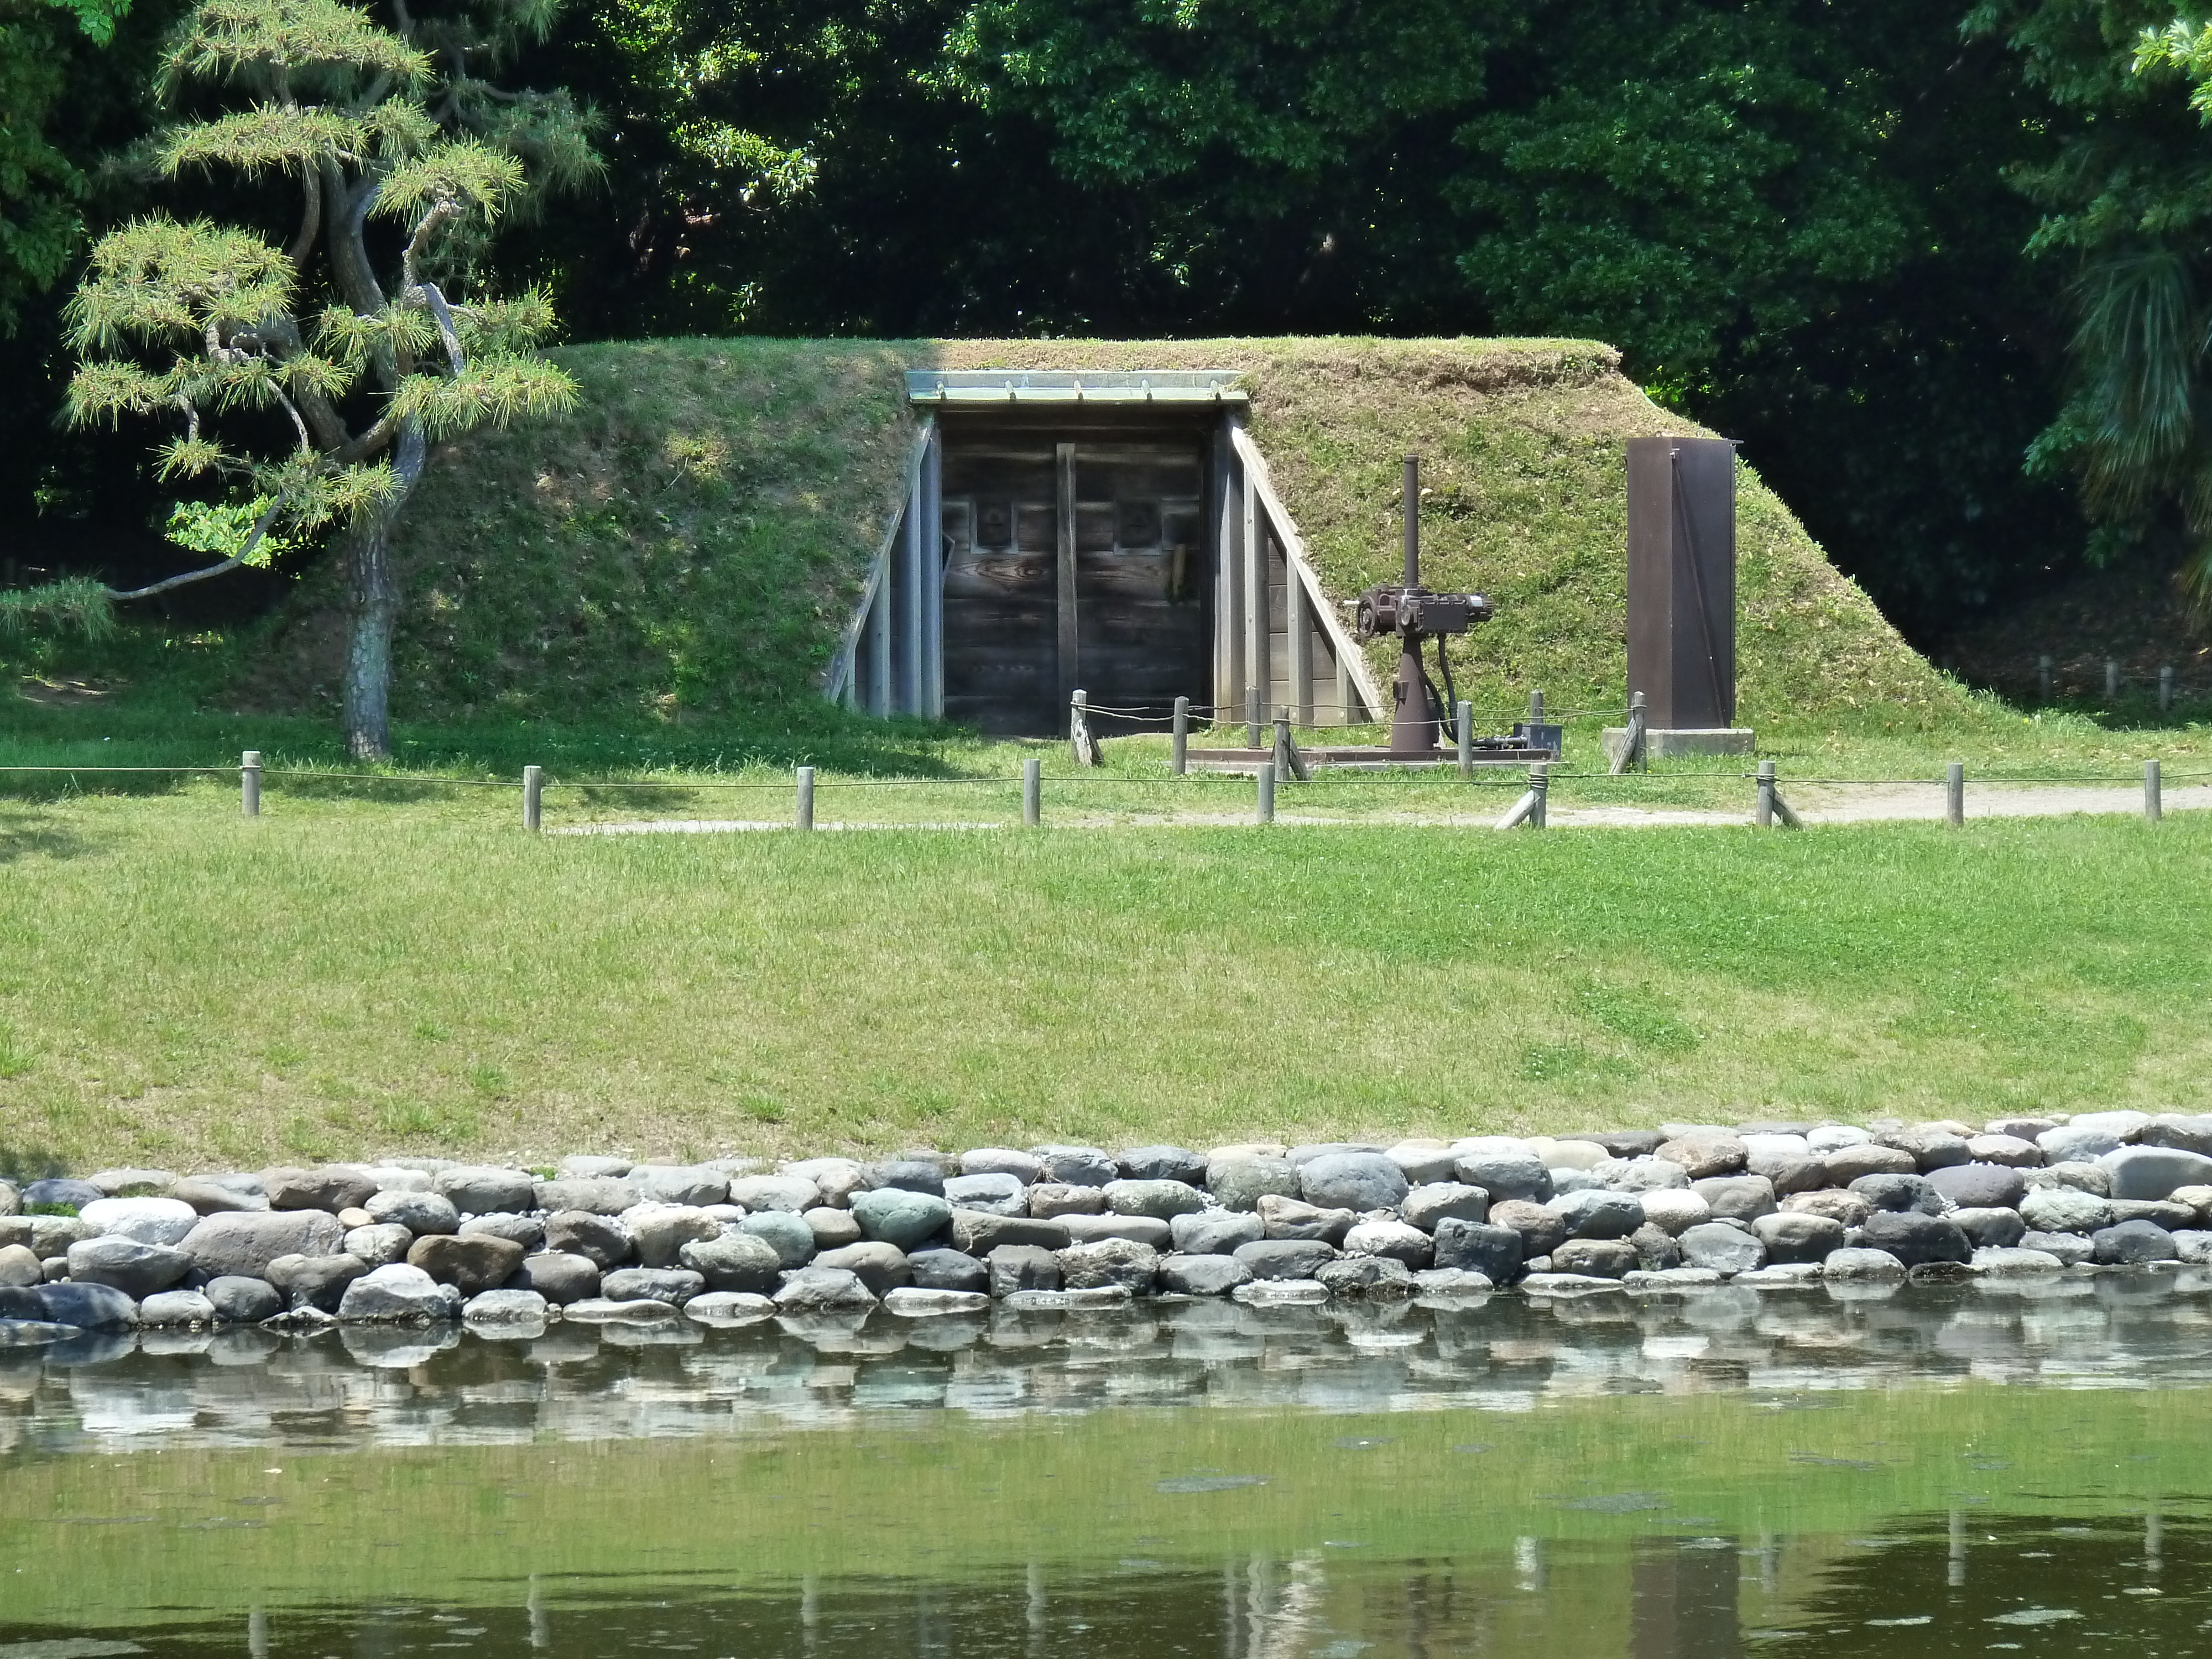
<path id="1" fill-rule="evenodd" d="M 409 518 L 394 708 L 626 719 L 805 699 L 902 487 L 907 367 L 1243 369 L 1252 431 L 1332 593 L 1398 564 L 1400 456 L 1425 456 L 1425 575 L 1498 602 L 1455 646 L 1489 708 L 1613 708 L 1626 661 L 1621 440 L 1699 431 L 1588 341 L 655 341 L 557 354 L 584 409 L 445 449 Z M 1745 721 L 1858 710 L 1916 728 L 1962 692 L 1745 469 Z M 332 695 L 334 573 L 263 690 Z M 1378 657 L 1378 672 L 1389 664 Z"/>

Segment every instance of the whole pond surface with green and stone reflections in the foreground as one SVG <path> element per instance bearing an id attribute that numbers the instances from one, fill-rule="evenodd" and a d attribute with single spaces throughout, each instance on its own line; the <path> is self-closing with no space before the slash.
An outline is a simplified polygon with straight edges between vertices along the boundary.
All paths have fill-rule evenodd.
<path id="1" fill-rule="evenodd" d="M 0 1349 L 0 1659 L 2212 1650 L 2212 1279 Z"/>

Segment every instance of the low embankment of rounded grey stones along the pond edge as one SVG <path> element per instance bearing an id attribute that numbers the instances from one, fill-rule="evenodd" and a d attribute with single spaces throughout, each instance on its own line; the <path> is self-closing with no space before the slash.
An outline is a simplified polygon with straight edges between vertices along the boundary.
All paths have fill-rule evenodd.
<path id="1" fill-rule="evenodd" d="M 2212 1117 L 1672 1124 L 0 1183 L 0 1345 L 122 1325 L 745 1323 L 1130 1296 L 1659 1292 L 2212 1263 Z"/>

